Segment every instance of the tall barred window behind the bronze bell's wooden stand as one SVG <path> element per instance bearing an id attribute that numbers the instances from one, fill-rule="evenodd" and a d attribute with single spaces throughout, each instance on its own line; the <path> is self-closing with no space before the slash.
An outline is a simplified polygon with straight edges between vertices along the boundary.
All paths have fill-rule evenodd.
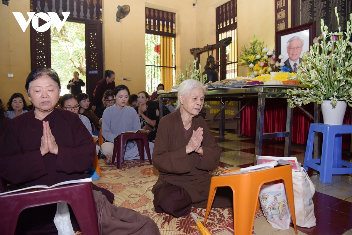
<path id="1" fill-rule="evenodd" d="M 227 37 L 232 37 L 232 43 L 226 47 L 226 79 L 229 79 L 237 76 L 237 0 L 216 8 L 216 42 Z M 219 58 L 218 50 L 216 60 Z"/>

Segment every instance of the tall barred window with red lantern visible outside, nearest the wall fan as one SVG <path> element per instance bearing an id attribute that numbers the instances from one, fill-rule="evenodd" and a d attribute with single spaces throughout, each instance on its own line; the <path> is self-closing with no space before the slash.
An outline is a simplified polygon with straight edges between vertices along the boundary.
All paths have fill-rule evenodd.
<path id="1" fill-rule="evenodd" d="M 170 90 L 175 78 L 175 13 L 145 8 L 145 90 L 159 83 Z"/>

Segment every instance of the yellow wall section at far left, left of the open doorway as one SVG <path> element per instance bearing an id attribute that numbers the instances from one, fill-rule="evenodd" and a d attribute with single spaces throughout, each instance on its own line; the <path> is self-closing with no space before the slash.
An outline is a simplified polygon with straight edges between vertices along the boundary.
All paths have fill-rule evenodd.
<path id="1" fill-rule="evenodd" d="M 0 5 L 0 99 L 8 102 L 15 92 L 27 99 L 25 82 L 31 71 L 30 30 L 23 32 L 12 12 L 29 12 L 29 0 L 13 0 L 9 6 Z M 7 74 L 13 77 L 7 77 Z"/>

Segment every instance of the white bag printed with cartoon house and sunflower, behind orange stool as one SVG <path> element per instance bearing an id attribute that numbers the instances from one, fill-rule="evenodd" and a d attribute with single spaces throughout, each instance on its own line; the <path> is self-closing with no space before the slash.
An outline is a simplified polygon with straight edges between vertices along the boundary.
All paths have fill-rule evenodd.
<path id="1" fill-rule="evenodd" d="M 283 183 L 264 184 L 260 190 L 259 200 L 264 216 L 272 227 L 289 229 L 291 213 Z"/>

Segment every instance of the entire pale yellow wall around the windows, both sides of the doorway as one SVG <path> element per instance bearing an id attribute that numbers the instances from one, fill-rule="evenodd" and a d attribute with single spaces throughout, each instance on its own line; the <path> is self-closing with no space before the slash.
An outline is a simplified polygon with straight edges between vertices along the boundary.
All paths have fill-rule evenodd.
<path id="1" fill-rule="evenodd" d="M 116 73 L 115 83 L 125 84 L 131 93 L 145 90 L 145 7 L 176 12 L 176 68 L 185 70 L 189 49 L 214 44 L 215 8 L 228 0 L 103 0 L 103 61 L 104 69 Z M 15 92 L 25 93 L 24 84 L 30 72 L 30 30 L 22 32 L 12 12 L 29 12 L 29 0 L 12 0 L 0 6 L 0 98 L 7 102 Z M 116 22 L 118 5 L 130 5 L 131 12 Z M 270 49 L 275 44 L 274 1 L 237 0 L 238 48 L 249 43 L 256 34 Z M 264 23 L 263 23 L 264 22 Z M 201 57 L 202 68 L 206 53 Z M 239 66 L 239 76 L 247 69 Z M 13 73 L 8 78 L 7 73 Z M 131 77 L 132 81 L 119 81 Z"/>

